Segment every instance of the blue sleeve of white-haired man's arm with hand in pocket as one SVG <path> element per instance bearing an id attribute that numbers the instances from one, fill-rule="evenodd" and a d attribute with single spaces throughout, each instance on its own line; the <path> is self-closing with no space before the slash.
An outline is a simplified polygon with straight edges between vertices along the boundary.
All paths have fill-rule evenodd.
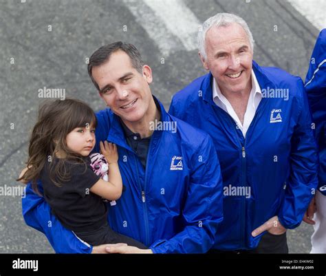
<path id="1" fill-rule="evenodd" d="M 279 211 L 279 221 L 287 229 L 294 229 L 303 220 L 318 184 L 318 155 L 312 131 L 312 118 L 307 95 L 300 80 L 297 83 L 298 120 L 291 140 L 290 177 Z"/>

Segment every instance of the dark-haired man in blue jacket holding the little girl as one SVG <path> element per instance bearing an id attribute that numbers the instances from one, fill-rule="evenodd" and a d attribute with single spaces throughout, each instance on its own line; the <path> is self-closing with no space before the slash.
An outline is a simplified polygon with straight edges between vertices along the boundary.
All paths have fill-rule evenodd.
<path id="1" fill-rule="evenodd" d="M 25 221 L 45 233 L 57 253 L 205 253 L 214 244 L 223 219 L 215 147 L 204 131 L 166 113 L 151 94 L 151 67 L 143 64 L 133 45 L 118 42 L 94 52 L 88 71 L 109 107 L 97 114 L 95 151 L 101 140 L 118 146 L 125 187 L 110 206 L 109 225 L 150 249 L 86 244 L 28 186 Z"/>

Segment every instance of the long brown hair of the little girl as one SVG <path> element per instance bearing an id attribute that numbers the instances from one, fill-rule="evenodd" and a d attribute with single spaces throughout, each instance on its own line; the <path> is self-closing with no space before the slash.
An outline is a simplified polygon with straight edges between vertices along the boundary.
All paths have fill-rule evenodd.
<path id="1" fill-rule="evenodd" d="M 65 160 L 84 162 L 83 156 L 67 147 L 66 137 L 76 127 L 96 127 L 97 120 L 91 107 L 81 100 L 66 98 L 45 102 L 39 109 L 39 117 L 32 131 L 28 148 L 29 168 L 19 180 L 31 181 L 32 189 L 39 193 L 37 180 L 46 162 L 50 162 L 50 179 L 58 186 L 69 181 Z M 65 153 L 65 158 L 56 158 L 56 153 Z"/>

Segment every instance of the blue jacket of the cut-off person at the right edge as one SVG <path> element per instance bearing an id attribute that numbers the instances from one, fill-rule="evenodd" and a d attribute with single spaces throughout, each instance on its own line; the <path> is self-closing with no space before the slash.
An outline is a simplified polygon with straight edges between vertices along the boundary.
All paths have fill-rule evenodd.
<path id="1" fill-rule="evenodd" d="M 326 195 L 326 29 L 320 32 L 312 52 L 305 90 L 316 124 L 319 146 L 318 191 Z"/>

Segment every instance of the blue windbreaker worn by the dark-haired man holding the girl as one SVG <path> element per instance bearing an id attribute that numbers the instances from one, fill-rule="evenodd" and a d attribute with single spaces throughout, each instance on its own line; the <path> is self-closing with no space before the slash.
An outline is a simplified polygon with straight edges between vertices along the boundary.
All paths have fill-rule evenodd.
<path id="1" fill-rule="evenodd" d="M 98 112 L 96 149 L 100 140 L 118 145 L 119 167 L 126 187 L 116 206 L 109 206 L 114 231 L 133 237 L 154 253 L 205 253 L 213 246 L 223 220 L 221 171 L 213 141 L 199 129 L 167 114 L 164 131 L 153 132 L 146 171 L 127 145 L 119 118 L 110 109 Z M 176 123 L 176 131 L 169 124 Z M 40 185 L 41 190 L 41 185 Z M 28 184 L 23 217 L 45 233 L 56 253 L 90 253 L 52 215 L 50 206 Z"/>

